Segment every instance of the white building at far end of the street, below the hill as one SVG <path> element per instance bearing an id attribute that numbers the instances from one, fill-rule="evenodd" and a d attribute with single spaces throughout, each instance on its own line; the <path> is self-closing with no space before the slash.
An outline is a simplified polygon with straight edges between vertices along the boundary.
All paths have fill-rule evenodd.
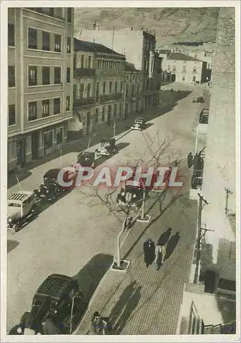
<path id="1" fill-rule="evenodd" d="M 192 56 L 170 52 L 162 60 L 162 72 L 169 76 L 169 80 L 188 84 L 207 81 L 207 62 Z"/>

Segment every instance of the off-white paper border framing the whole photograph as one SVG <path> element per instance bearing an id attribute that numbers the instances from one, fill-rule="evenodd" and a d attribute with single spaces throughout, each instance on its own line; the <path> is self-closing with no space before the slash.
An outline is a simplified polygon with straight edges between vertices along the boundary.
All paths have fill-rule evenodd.
<path id="1" fill-rule="evenodd" d="M 8 77 L 5 67 L 8 65 L 8 7 L 47 7 L 49 1 L 3 1 L 1 2 L 1 90 L 8 90 Z M 237 196 L 237 228 L 240 228 L 240 1 L 51 1 L 53 7 L 141 7 L 141 8 L 201 8 L 201 7 L 236 7 L 236 196 Z M 8 113 L 8 99 L 5 92 L 1 92 L 1 113 Z M 1 342 L 49 342 L 48 336 L 5 336 L 6 322 L 6 256 L 7 245 L 5 217 L 7 198 L 7 154 L 6 142 L 8 141 L 8 116 L 1 115 Z M 4 142 L 4 143 L 3 143 Z M 240 233 L 237 232 L 237 304 L 240 305 Z M 237 320 L 240 320 L 240 308 L 237 305 Z M 160 323 L 162 325 L 162 323 Z M 237 332 L 240 333 L 240 323 L 237 322 Z M 51 342 L 240 342 L 239 335 L 119 335 L 119 336 L 80 336 L 58 335 L 51 338 Z"/>

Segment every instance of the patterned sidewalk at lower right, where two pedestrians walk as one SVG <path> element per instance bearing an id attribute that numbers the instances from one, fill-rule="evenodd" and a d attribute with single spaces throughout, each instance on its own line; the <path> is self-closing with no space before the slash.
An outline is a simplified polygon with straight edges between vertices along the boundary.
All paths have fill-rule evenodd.
<path id="1" fill-rule="evenodd" d="M 152 202 L 157 194 L 151 196 Z M 171 198 L 168 191 L 162 209 Z M 136 223 L 121 251 L 122 258 L 131 260 L 129 270 L 109 270 L 103 276 L 74 334 L 90 334 L 91 317 L 94 311 L 99 311 L 102 316 L 112 318 L 115 335 L 174 335 L 183 287 L 189 281 L 196 237 L 196 212 L 196 202 L 185 196 L 166 209 L 153 224 Z M 160 214 L 160 204 L 156 204 L 149 213 L 155 220 Z M 159 271 L 154 263 L 146 268 L 142 250 L 144 241 L 151 237 L 156 244 L 168 227 L 173 228 L 172 235 L 179 231 L 178 243 L 166 247 L 169 258 Z"/>

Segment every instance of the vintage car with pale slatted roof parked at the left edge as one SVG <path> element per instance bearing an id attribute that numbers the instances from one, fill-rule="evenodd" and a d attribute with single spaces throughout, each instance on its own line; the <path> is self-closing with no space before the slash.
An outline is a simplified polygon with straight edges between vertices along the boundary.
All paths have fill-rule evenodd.
<path id="1" fill-rule="evenodd" d="M 8 198 L 8 228 L 17 232 L 21 226 L 38 215 L 34 191 L 17 191 Z"/>

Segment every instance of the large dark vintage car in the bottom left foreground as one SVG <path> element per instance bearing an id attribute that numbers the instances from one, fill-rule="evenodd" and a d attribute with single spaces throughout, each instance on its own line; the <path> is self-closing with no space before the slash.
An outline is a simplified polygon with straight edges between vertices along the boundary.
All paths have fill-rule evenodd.
<path id="1" fill-rule="evenodd" d="M 42 334 L 43 324 L 49 319 L 60 333 L 69 334 L 76 329 L 86 305 L 76 280 L 70 276 L 51 274 L 38 287 L 31 310 L 28 316 L 25 312 L 25 320 L 22 317 L 21 322 L 24 322 L 24 329 Z"/>

